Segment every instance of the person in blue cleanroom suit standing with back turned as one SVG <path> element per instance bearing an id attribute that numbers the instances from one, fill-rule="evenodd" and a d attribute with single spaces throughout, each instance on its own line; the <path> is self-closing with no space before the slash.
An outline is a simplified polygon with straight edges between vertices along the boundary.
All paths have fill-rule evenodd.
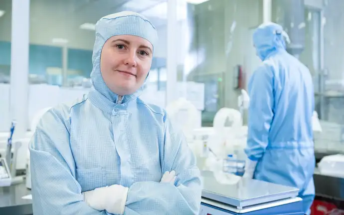
<path id="1" fill-rule="evenodd" d="M 253 34 L 263 61 L 249 81 L 244 177 L 297 187 L 309 214 L 315 190 L 311 73 L 286 51 L 282 26 L 262 24 Z M 288 38 L 289 39 L 289 38 Z"/>

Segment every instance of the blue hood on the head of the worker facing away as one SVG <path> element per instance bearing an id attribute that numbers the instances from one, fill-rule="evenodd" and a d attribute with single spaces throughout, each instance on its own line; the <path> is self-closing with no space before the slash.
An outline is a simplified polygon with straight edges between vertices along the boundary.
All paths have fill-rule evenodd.
<path id="1" fill-rule="evenodd" d="M 261 24 L 253 33 L 253 44 L 256 47 L 257 55 L 261 60 L 275 51 L 286 50 L 287 33 L 279 24 L 269 22 Z"/>

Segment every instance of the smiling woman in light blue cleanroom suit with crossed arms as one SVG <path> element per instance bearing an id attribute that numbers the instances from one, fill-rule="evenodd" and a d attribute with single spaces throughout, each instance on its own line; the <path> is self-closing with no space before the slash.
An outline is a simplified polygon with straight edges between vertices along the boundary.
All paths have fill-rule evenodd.
<path id="1" fill-rule="evenodd" d="M 29 144 L 35 215 L 198 214 L 191 150 L 165 110 L 139 98 L 157 40 L 135 12 L 96 23 L 92 90 L 47 111 Z"/>

